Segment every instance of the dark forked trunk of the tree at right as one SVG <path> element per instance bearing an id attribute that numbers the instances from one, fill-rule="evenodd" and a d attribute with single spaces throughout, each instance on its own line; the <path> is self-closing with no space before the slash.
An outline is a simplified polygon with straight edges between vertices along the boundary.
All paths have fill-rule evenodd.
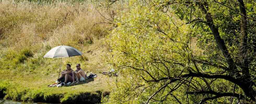
<path id="1" fill-rule="evenodd" d="M 238 1 L 242 1 L 242 0 L 238 0 Z M 242 2 L 243 4 L 243 2 Z M 242 36 L 241 36 L 241 50 L 242 50 L 242 56 L 243 57 L 243 66 L 245 68 L 243 68 L 243 75 L 246 75 L 246 77 L 241 77 L 241 75 L 239 73 L 235 73 L 235 75 L 237 77 L 239 77 L 240 81 L 237 83 L 237 85 L 242 88 L 243 92 L 245 93 L 245 95 L 247 97 L 249 97 L 251 100 L 255 101 L 255 96 L 256 96 L 256 91 L 253 89 L 253 86 L 255 85 L 255 83 L 251 80 L 249 80 L 250 76 L 249 76 L 249 71 L 248 71 L 248 61 L 246 59 L 246 52 L 247 52 L 247 23 L 246 23 L 246 11 L 244 8 L 244 4 L 240 5 L 242 9 L 241 10 L 241 14 L 243 14 L 242 19 L 245 21 L 241 21 L 241 30 L 242 30 Z M 225 57 L 228 65 L 229 65 L 229 71 L 231 74 L 233 73 L 233 70 L 236 70 L 237 67 L 231 57 L 231 55 L 228 52 L 228 49 L 225 45 L 225 42 L 222 40 L 222 38 L 219 35 L 219 30 L 218 28 L 215 27 L 214 23 L 213 23 L 213 19 L 212 19 L 212 15 L 208 12 L 208 4 L 207 3 L 200 3 L 199 7 L 201 8 L 201 10 L 206 14 L 205 18 L 207 21 L 207 25 L 208 27 L 211 29 L 214 38 L 216 40 L 216 43 L 218 44 L 220 50 L 223 53 L 223 56 Z M 249 76 L 249 77 L 248 77 Z"/>

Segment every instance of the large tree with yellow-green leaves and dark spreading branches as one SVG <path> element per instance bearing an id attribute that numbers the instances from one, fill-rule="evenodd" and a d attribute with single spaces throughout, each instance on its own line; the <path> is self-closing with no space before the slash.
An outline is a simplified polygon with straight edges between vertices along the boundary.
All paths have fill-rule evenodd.
<path id="1" fill-rule="evenodd" d="M 126 6 L 107 41 L 108 63 L 121 73 L 110 101 L 255 103 L 255 1 L 130 0 Z"/>

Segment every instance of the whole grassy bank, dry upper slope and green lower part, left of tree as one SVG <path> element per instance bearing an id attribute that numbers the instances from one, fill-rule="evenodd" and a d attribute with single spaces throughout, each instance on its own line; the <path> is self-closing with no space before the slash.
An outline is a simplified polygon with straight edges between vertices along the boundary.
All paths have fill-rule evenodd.
<path id="1" fill-rule="evenodd" d="M 0 98 L 100 103 L 109 94 L 107 83 L 113 78 L 100 73 L 109 70 L 101 57 L 108 52 L 104 36 L 110 26 L 94 25 L 104 22 L 94 5 L 81 1 L 0 1 L 0 5 Z M 80 63 L 82 69 L 98 77 L 75 86 L 48 88 L 58 77 L 60 59 L 43 56 L 62 44 L 83 53 L 63 58 L 62 65 L 70 63 L 75 69 L 75 64 Z"/>

